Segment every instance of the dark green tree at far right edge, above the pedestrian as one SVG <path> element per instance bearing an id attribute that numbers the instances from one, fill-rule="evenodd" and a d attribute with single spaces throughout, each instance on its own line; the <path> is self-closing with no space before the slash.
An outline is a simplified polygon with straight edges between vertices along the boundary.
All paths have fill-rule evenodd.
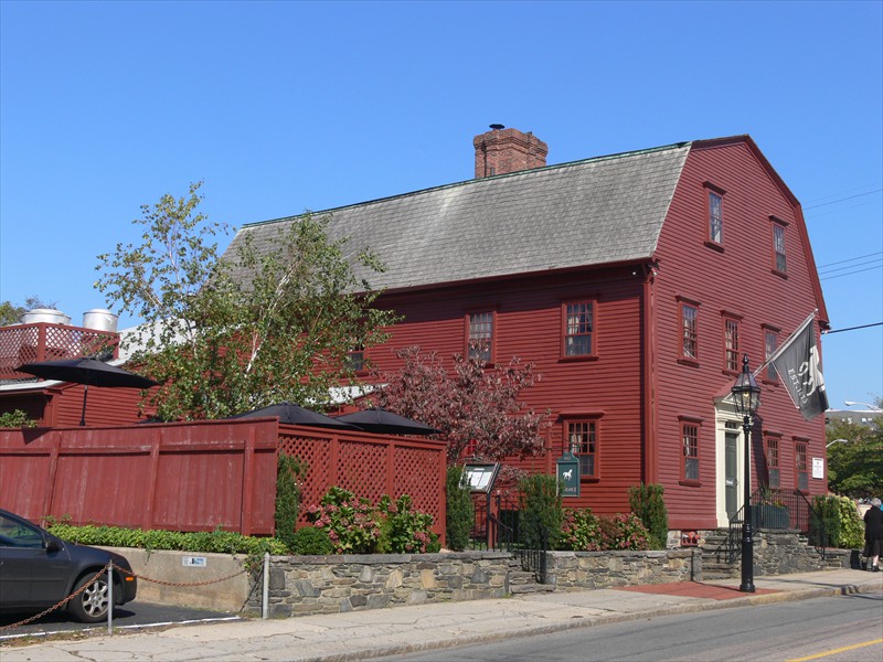
<path id="1" fill-rule="evenodd" d="M 861 499 L 883 493 L 883 426 L 836 423 L 826 430 L 828 487 Z"/>

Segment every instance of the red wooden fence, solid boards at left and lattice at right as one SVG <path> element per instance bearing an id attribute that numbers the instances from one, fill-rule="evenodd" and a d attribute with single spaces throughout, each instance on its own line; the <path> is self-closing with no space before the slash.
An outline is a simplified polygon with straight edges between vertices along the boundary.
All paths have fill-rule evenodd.
<path id="1" fill-rule="evenodd" d="M 0 429 L 0 508 L 38 522 L 272 534 L 277 449 L 309 466 L 305 508 L 332 485 L 372 501 L 408 494 L 444 542 L 444 442 L 275 418 Z"/>

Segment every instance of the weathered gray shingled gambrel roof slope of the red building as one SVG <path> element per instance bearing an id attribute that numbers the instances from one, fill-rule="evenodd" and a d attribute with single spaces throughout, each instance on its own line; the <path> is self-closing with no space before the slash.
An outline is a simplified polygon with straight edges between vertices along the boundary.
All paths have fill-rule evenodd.
<path id="1" fill-rule="evenodd" d="M 649 258 L 690 143 L 470 180 L 328 210 L 329 235 L 371 248 L 400 289 Z M 279 223 L 241 228 L 270 247 Z M 362 275 L 362 274 L 359 274 Z"/>

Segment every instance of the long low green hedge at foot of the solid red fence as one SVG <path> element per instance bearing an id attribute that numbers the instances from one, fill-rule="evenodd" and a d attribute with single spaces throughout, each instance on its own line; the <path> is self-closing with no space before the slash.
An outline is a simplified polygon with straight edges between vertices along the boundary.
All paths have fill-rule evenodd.
<path id="1" fill-rule="evenodd" d="M 105 547 L 141 547 L 143 549 L 174 549 L 182 552 L 203 552 L 219 554 L 288 554 L 288 548 L 276 538 L 242 535 L 232 531 L 182 533 L 119 526 L 72 526 L 51 524 L 50 533 L 79 545 L 102 545 Z"/>

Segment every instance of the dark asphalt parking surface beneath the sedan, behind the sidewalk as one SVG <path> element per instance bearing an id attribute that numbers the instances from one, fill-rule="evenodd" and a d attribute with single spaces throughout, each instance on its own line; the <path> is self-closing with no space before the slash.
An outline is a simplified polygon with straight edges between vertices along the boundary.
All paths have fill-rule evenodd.
<path id="1" fill-rule="evenodd" d="M 20 637 L 45 637 L 49 634 L 75 633 L 85 630 L 107 631 L 107 622 L 81 623 L 72 620 L 64 611 L 54 611 L 43 618 L 15 628 L 8 626 L 26 619 L 28 613 L 0 615 L 0 641 Z M 241 620 L 240 617 L 224 611 L 209 611 L 169 605 L 152 605 L 135 600 L 114 610 L 114 629 L 137 629 L 163 627 L 169 624 L 187 624 L 193 622 L 212 622 L 217 620 Z"/>

